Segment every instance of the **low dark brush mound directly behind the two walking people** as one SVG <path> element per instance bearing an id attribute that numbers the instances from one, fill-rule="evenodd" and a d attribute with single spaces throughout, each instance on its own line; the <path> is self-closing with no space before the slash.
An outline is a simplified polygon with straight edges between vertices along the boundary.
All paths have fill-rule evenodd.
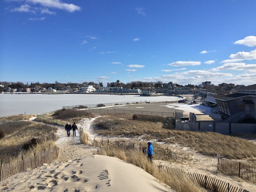
<path id="1" fill-rule="evenodd" d="M 49 115 L 49 118 L 64 122 L 76 122 L 83 118 L 93 118 L 95 115 L 83 109 L 60 109 Z"/>

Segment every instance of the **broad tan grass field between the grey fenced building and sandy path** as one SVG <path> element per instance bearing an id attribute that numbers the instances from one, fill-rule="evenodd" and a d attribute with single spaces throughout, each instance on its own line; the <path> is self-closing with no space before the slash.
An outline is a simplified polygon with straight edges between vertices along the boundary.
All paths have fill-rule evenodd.
<path id="1" fill-rule="evenodd" d="M 129 114 L 107 114 L 97 118 L 93 127 L 97 134 L 106 137 L 140 137 L 144 140 L 163 141 L 214 157 L 220 154 L 230 159 L 256 158 L 256 144 L 249 140 L 214 132 L 176 131 L 165 126 L 164 121 L 158 117 L 144 118 L 149 121 L 139 118 L 134 120 Z"/>

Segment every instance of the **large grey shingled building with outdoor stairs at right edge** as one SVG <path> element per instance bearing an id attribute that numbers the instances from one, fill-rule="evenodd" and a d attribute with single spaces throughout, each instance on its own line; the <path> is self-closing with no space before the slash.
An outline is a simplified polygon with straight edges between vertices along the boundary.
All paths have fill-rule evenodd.
<path id="1" fill-rule="evenodd" d="M 256 119 L 256 84 L 238 88 L 236 93 L 214 96 L 214 99 L 224 120 L 231 117 L 236 117 L 237 121 L 244 118 Z"/>

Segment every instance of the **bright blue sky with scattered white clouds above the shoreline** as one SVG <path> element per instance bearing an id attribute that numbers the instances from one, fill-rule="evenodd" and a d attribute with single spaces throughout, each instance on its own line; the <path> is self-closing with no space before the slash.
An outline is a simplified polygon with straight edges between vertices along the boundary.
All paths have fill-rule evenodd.
<path id="1" fill-rule="evenodd" d="M 255 0 L 1 0 L 0 81 L 255 84 L 255 10 Z"/>

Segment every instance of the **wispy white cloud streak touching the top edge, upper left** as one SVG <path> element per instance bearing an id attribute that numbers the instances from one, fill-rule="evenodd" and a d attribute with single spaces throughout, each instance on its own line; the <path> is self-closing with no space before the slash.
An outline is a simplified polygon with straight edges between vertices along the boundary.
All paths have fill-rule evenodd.
<path id="1" fill-rule="evenodd" d="M 81 7 L 74 4 L 63 3 L 60 0 L 26 0 L 27 2 L 31 2 L 33 4 L 41 4 L 45 7 L 51 7 L 56 9 L 65 10 L 68 12 L 80 11 Z"/>

